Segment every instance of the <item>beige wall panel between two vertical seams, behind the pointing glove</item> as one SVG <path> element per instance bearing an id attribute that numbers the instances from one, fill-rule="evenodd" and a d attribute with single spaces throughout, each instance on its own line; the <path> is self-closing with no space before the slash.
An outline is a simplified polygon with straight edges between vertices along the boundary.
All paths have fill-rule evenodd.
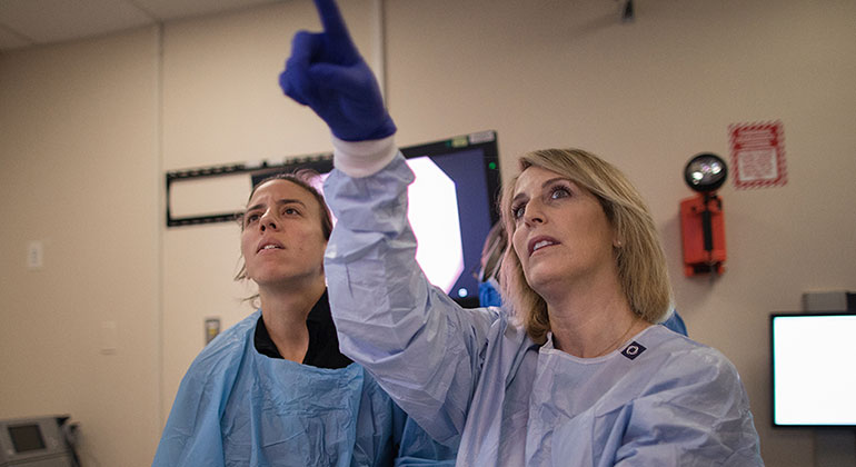
<path id="1" fill-rule="evenodd" d="M 362 49 L 371 48 L 371 4 L 350 1 L 344 14 Z M 298 29 L 320 28 L 311 2 L 170 24 L 163 36 L 165 170 L 328 151 L 329 130 L 279 88 L 279 72 Z M 237 189 L 233 209 L 249 195 Z M 231 183 L 229 183 L 231 185 Z M 201 191 L 205 193 L 205 191 Z M 251 290 L 236 284 L 237 223 L 171 228 L 163 235 L 163 385 L 169 411 L 185 370 L 203 344 L 202 324 L 222 328 L 246 317 Z M 193 290 L 196 292 L 188 292 Z"/>

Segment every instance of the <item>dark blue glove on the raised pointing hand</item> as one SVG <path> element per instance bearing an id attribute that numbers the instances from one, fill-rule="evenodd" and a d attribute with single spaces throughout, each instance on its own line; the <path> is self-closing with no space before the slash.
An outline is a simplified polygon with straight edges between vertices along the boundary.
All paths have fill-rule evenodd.
<path id="1" fill-rule="evenodd" d="M 315 0 L 324 32 L 299 31 L 279 76 L 282 92 L 309 106 L 345 141 L 396 132 L 375 74 L 351 41 L 334 0 Z"/>

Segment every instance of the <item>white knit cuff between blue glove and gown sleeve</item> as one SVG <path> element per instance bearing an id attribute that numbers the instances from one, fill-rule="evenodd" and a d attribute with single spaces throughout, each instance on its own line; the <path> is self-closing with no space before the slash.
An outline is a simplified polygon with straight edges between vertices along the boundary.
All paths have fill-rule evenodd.
<path id="1" fill-rule="evenodd" d="M 348 177 L 362 178 L 380 171 L 398 153 L 395 135 L 367 141 L 332 139 L 332 165 Z"/>

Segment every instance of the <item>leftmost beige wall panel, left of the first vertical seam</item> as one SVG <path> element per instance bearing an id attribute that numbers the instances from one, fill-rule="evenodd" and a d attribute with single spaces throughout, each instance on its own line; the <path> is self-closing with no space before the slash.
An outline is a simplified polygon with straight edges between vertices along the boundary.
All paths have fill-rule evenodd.
<path id="1" fill-rule="evenodd" d="M 157 46 L 0 57 L 0 417 L 71 414 L 87 466 L 145 465 L 160 433 Z"/>

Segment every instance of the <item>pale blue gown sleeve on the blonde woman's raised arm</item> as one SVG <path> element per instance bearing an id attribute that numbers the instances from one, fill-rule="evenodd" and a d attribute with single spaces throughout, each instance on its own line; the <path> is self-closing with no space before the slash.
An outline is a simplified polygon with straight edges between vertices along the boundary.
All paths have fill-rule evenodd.
<path id="1" fill-rule="evenodd" d="M 338 222 L 325 271 L 342 352 L 429 435 L 454 446 L 498 316 L 460 308 L 425 278 L 407 221 L 411 180 L 400 155 L 368 177 L 330 175 L 325 192 Z"/>

